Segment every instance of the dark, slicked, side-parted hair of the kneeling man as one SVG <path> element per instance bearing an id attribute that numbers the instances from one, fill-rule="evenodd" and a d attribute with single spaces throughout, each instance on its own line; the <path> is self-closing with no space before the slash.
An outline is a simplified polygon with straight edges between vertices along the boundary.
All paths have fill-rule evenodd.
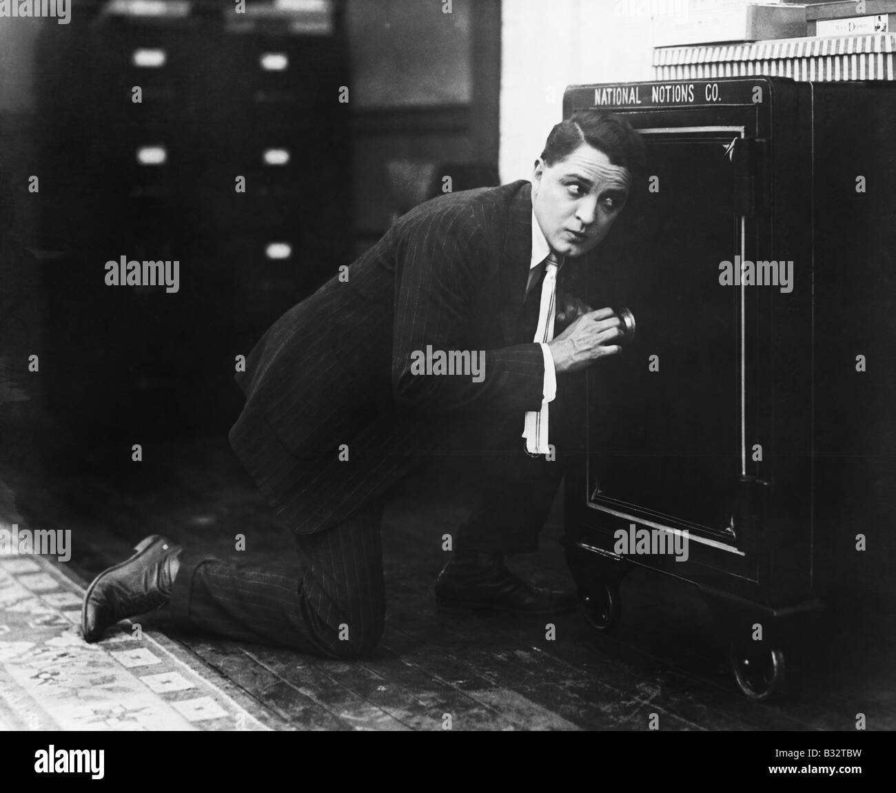
<path id="1" fill-rule="evenodd" d="M 548 166 L 566 159 L 582 143 L 603 151 L 610 163 L 628 168 L 636 177 L 647 167 L 644 142 L 621 116 L 604 110 L 576 110 L 551 130 L 541 159 Z"/>

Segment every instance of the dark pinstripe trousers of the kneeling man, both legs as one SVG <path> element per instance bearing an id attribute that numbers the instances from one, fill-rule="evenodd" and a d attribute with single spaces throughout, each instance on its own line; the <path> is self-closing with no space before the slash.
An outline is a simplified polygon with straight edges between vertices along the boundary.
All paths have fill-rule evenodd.
<path id="1" fill-rule="evenodd" d="M 567 383 L 569 385 L 569 383 Z M 552 403 L 556 461 L 522 452 L 522 419 L 492 423 L 487 473 L 457 534 L 459 551 L 519 554 L 538 548 L 573 448 L 564 398 Z M 275 644 L 336 659 L 372 651 L 383 634 L 385 591 L 380 527 L 384 496 L 332 529 L 293 536 L 297 569 L 275 572 L 185 551 L 171 616 L 188 630 Z"/>

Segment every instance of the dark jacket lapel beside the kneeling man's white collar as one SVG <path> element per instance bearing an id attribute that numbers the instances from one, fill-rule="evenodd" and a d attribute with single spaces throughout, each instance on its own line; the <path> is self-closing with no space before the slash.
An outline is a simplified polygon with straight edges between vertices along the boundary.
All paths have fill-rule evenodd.
<path id="1" fill-rule="evenodd" d="M 513 195 L 501 257 L 501 331 L 504 339 L 520 340 L 522 303 L 532 258 L 532 185 L 526 182 Z"/>

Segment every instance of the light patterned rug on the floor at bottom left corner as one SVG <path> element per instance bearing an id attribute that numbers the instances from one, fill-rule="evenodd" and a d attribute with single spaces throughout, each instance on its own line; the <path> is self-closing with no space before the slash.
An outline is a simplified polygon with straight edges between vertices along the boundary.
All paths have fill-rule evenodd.
<path id="1" fill-rule="evenodd" d="M 83 596 L 41 556 L 0 556 L 0 729 L 268 729 L 163 635 L 84 642 Z"/>

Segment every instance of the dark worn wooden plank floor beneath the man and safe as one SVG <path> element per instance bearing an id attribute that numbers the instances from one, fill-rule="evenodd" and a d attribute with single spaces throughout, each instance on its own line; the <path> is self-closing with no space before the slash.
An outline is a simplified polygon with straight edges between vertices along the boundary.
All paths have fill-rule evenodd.
<path id="1" fill-rule="evenodd" d="M 291 543 L 223 436 L 168 444 L 140 477 L 50 475 L 27 449 L 4 454 L 7 508 L 32 528 L 73 530 L 69 573 L 87 582 L 164 532 L 219 556 L 279 564 Z M 85 452 L 89 457 L 90 452 Z M 89 461 L 87 461 L 89 463 Z M 126 466 L 126 463 L 125 463 Z M 461 467 L 462 468 L 462 467 Z M 892 614 L 834 608 L 823 633 L 788 659 L 791 686 L 780 704 L 756 704 L 728 679 L 725 648 L 696 592 L 635 571 L 623 584 L 623 626 L 596 634 L 580 614 L 546 617 L 446 616 L 433 584 L 471 481 L 445 464 L 403 484 L 383 527 L 389 603 L 383 641 L 370 659 L 337 662 L 170 629 L 165 611 L 142 617 L 165 632 L 198 669 L 228 678 L 254 715 L 275 729 L 642 730 L 651 714 L 667 730 L 851 730 L 896 727 Z M 249 529 L 249 531 L 247 531 Z M 540 582 L 573 586 L 557 539 L 559 499 L 538 555 L 510 566 Z M 837 604 L 834 604 L 835 607 Z M 555 625 L 554 641 L 546 638 Z"/>

